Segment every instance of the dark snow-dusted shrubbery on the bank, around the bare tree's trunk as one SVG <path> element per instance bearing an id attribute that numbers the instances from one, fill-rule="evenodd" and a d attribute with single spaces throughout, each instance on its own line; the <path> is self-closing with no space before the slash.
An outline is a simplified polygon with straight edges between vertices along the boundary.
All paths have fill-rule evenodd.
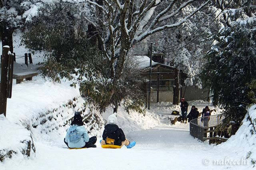
<path id="1" fill-rule="evenodd" d="M 52 12 L 35 17 L 24 33 L 23 43 L 28 48 L 48 51 L 42 76 L 57 82 L 63 77 L 73 80 L 72 85 L 79 84 L 81 94 L 101 111 L 118 107 L 124 101 L 127 110 L 144 112 L 143 81 L 136 64 L 126 60 L 118 85 L 113 87 L 112 61 L 98 49 L 97 43 L 92 44 L 94 35 L 82 29 L 86 24 L 76 12 L 72 4 L 60 3 Z"/>

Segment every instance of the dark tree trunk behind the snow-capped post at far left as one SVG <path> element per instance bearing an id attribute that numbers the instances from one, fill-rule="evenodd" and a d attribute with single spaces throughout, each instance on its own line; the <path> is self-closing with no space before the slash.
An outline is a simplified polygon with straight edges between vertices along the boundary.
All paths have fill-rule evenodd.
<path id="1" fill-rule="evenodd" d="M 6 25 L 2 25 L 0 27 L 0 31 L 2 37 L 2 47 L 8 45 L 10 47 L 10 51 L 13 53 L 12 33 L 14 32 L 14 29 L 10 29 Z"/>

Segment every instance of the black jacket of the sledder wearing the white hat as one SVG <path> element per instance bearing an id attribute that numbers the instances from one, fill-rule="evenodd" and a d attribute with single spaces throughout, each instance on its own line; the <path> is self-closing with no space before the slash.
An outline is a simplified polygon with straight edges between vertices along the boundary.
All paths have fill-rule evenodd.
<path id="1" fill-rule="evenodd" d="M 121 128 L 118 125 L 107 124 L 103 131 L 102 138 L 106 141 L 106 138 L 114 139 L 114 145 L 122 145 L 122 142 L 125 141 L 125 135 Z M 106 143 L 110 144 L 110 143 Z"/>

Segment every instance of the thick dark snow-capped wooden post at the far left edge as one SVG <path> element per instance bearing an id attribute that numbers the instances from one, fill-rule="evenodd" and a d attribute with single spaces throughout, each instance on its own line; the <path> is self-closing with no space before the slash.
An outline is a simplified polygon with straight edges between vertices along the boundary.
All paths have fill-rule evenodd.
<path id="1" fill-rule="evenodd" d="M 7 68 L 8 68 L 8 51 L 9 46 L 4 46 L 2 51 L 1 63 L 1 84 L 0 84 L 0 114 L 6 117 L 6 102 L 7 102 Z"/>

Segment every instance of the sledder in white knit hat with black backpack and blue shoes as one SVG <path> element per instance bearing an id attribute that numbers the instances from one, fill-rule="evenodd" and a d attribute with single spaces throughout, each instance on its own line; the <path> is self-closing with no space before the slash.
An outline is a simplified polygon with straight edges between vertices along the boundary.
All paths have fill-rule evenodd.
<path id="1" fill-rule="evenodd" d="M 136 144 L 135 141 L 130 142 L 126 139 L 124 132 L 117 125 L 117 113 L 114 113 L 108 117 L 108 124 L 102 134 L 101 145 L 125 145 L 127 148 L 132 148 Z"/>

